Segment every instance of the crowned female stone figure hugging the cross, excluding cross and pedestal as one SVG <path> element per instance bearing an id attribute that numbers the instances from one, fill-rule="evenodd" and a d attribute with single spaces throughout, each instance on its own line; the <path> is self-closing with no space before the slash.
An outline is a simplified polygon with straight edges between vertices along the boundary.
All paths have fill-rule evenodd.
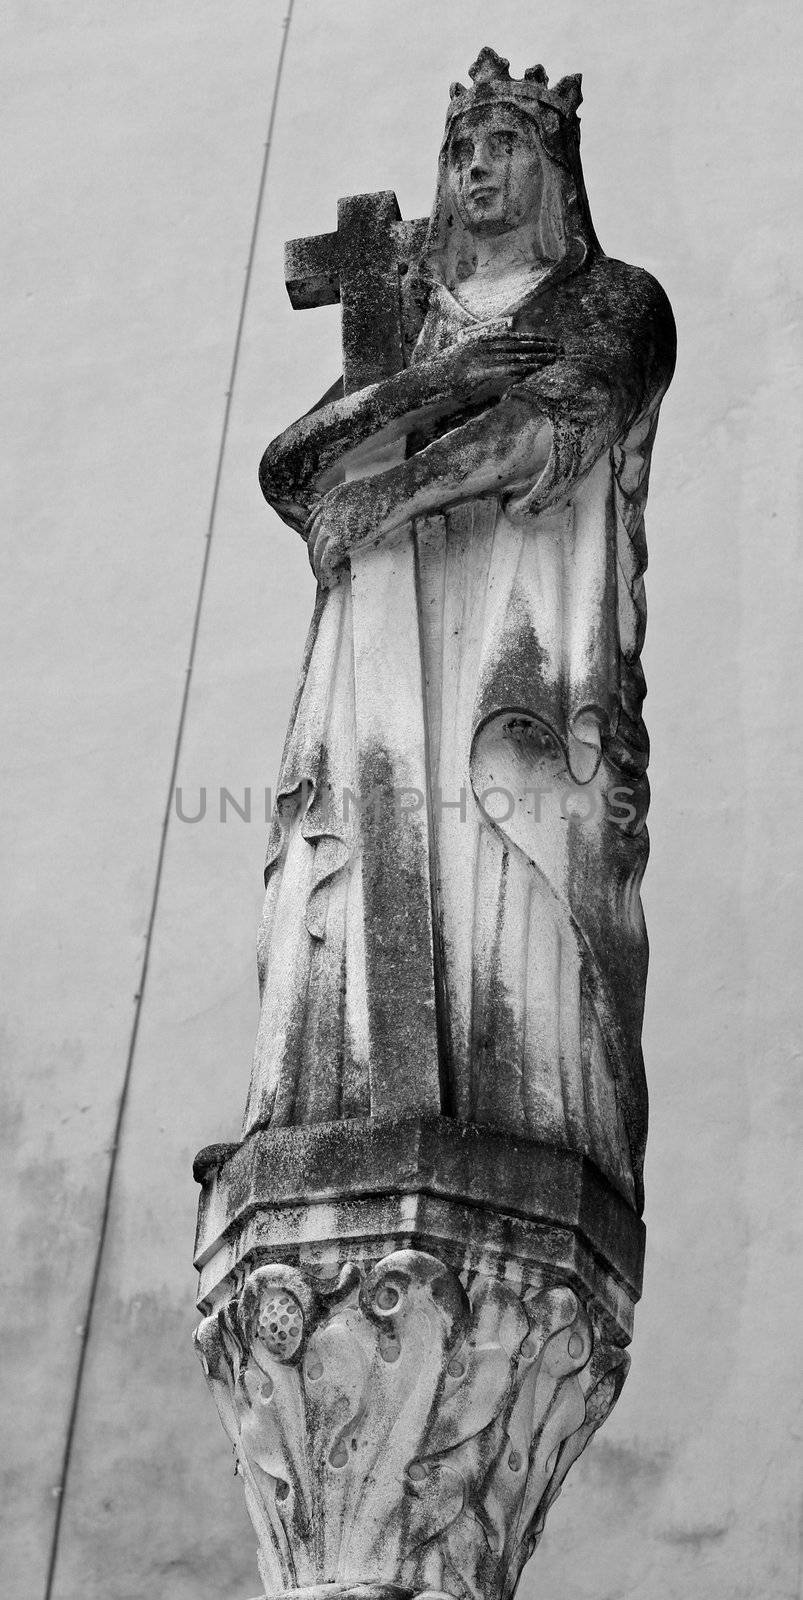
<path id="1" fill-rule="evenodd" d="M 441 1110 L 579 1150 L 640 1208 L 643 507 L 673 322 L 649 274 L 597 242 L 579 77 L 512 80 L 491 50 L 470 75 L 400 280 L 403 371 L 336 386 L 262 461 L 318 598 L 245 1128 L 371 1114 L 365 838 L 381 845 L 400 768 L 387 744 L 368 776 L 360 757 L 350 568 L 406 536 L 417 637 L 386 643 L 421 659 Z M 368 781 L 389 810 L 360 803 Z"/>

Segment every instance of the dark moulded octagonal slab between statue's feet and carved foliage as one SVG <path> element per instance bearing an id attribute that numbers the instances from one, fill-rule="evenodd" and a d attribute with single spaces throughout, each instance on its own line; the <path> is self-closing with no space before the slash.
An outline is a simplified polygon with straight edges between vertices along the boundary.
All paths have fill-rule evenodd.
<path id="1" fill-rule="evenodd" d="M 202 1150 L 198 1306 L 226 1298 L 266 1253 L 325 1259 L 395 1238 L 520 1283 L 547 1267 L 627 1341 L 641 1291 L 643 1222 L 593 1165 L 453 1118 L 390 1117 L 258 1130 Z M 330 1251 L 331 1254 L 331 1251 Z"/>

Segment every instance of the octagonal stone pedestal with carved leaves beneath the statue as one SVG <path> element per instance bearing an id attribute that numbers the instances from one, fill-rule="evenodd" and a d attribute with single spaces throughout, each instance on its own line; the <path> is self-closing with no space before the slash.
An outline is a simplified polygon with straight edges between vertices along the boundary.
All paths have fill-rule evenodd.
<path id="1" fill-rule="evenodd" d="M 643 1229 L 448 1118 L 202 1152 L 198 1354 L 269 1595 L 504 1600 L 624 1382 Z"/>

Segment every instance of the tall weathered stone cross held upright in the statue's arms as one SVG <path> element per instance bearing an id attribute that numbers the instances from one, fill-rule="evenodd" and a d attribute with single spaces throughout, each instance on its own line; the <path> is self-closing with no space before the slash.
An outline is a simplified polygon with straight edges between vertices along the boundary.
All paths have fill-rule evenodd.
<path id="1" fill-rule="evenodd" d="M 386 189 L 338 200 L 334 234 L 285 246 L 293 307 L 341 302 L 346 394 L 405 365 L 400 272 L 421 253 L 425 229 L 425 218 L 403 222 Z M 403 440 L 362 451 L 360 467 L 347 475 L 368 477 L 403 456 Z M 354 550 L 350 579 L 371 1115 L 437 1114 L 443 1106 L 413 528 L 394 544 Z M 395 752 L 397 776 L 390 808 L 386 803 L 379 816 L 365 805 L 378 750 Z"/>

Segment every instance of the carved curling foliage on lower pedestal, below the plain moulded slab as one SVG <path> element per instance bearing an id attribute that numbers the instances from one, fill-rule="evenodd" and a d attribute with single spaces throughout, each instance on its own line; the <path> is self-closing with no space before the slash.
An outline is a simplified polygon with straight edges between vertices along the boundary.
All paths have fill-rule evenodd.
<path id="1" fill-rule="evenodd" d="M 629 1363 L 569 1288 L 464 1286 L 414 1250 L 261 1266 L 195 1339 L 267 1592 L 510 1595 Z"/>

